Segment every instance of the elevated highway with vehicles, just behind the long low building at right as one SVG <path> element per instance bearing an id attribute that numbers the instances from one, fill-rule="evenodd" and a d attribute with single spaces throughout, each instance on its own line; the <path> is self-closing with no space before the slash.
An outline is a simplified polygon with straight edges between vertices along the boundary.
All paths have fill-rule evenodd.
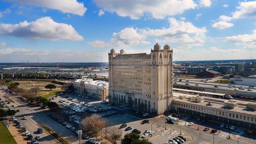
<path id="1" fill-rule="evenodd" d="M 188 82 L 187 82 L 188 81 Z M 229 94 L 237 97 L 250 97 L 256 98 L 256 89 L 251 89 L 252 91 L 248 91 L 248 86 L 243 86 L 244 90 L 239 90 L 238 88 L 241 85 L 235 85 L 233 88 L 229 88 L 228 84 L 220 84 L 220 83 L 212 83 L 212 82 L 200 82 L 200 81 L 189 81 L 189 80 L 182 80 L 181 82 L 179 79 L 173 82 L 174 87 L 177 88 L 190 88 L 193 90 L 201 90 L 206 92 L 215 92 L 215 93 L 224 93 Z M 218 87 L 215 87 L 218 86 Z M 237 89 L 237 90 L 235 90 Z"/>

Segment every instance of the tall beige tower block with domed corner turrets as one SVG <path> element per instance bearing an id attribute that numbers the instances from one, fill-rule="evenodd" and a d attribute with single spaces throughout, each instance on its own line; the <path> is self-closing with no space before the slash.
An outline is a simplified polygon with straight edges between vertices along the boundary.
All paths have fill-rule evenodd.
<path id="1" fill-rule="evenodd" d="M 109 101 L 124 108 L 156 115 L 172 108 L 172 50 L 154 45 L 151 53 L 126 54 L 111 49 Z"/>

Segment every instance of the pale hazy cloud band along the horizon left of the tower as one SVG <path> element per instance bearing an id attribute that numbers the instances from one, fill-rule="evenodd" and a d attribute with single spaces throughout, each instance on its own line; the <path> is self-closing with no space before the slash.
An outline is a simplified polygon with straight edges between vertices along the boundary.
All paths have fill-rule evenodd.
<path id="1" fill-rule="evenodd" d="M 110 51 L 110 50 L 109 50 Z M 101 52 L 95 51 L 75 51 L 75 50 L 31 50 L 25 48 L 6 48 L 0 49 L 1 62 L 37 62 L 37 58 L 41 62 L 101 62 L 100 57 L 103 57 L 103 62 L 108 61 L 108 50 Z M 54 58 L 54 59 L 53 59 Z"/>

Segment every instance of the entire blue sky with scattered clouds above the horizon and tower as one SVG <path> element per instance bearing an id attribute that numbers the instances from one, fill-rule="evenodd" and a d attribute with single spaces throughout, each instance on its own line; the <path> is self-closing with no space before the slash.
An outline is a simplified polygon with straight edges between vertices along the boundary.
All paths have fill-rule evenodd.
<path id="1" fill-rule="evenodd" d="M 0 0 L 0 62 L 108 62 L 108 52 L 173 60 L 256 59 L 256 1 Z"/>

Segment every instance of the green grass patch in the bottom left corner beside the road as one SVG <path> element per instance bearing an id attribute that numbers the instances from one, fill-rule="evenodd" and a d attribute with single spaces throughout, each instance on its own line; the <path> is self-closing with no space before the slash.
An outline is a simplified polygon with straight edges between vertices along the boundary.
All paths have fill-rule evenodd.
<path id="1" fill-rule="evenodd" d="M 9 130 L 5 127 L 3 122 L 0 122 L 0 143 L 16 143 Z"/>

